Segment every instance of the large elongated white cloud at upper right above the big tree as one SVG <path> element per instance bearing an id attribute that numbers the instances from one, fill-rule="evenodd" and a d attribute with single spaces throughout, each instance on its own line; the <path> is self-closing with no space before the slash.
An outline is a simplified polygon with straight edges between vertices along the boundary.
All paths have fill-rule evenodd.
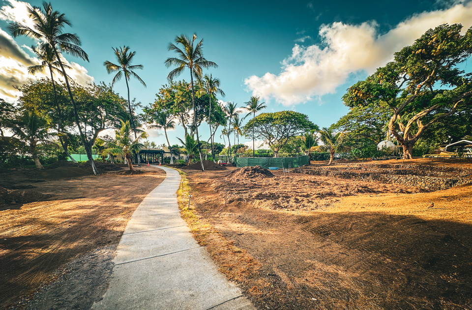
<path id="1" fill-rule="evenodd" d="M 303 103 L 334 93 L 351 73 L 362 70 L 373 73 L 391 61 L 394 52 L 444 23 L 460 23 L 464 31 L 471 27 L 472 2 L 414 15 L 382 35 L 378 34 L 375 21 L 323 25 L 319 31 L 323 45 L 295 44 L 292 55 L 282 61 L 280 74 L 253 75 L 244 84 L 253 95 L 265 100 L 273 98 L 287 106 Z"/>

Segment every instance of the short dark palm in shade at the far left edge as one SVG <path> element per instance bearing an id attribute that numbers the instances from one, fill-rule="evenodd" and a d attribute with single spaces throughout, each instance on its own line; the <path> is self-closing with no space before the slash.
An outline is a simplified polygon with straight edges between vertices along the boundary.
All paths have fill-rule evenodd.
<path id="1" fill-rule="evenodd" d="M 51 142 L 53 135 L 48 132 L 50 124 L 48 118 L 39 115 L 36 111 L 25 111 L 16 122 L 8 122 L 8 127 L 13 132 L 13 138 L 17 137 L 18 140 L 28 145 L 29 153 L 31 153 L 38 169 L 43 169 L 43 166 L 39 161 L 36 147 L 40 143 L 53 144 Z"/>

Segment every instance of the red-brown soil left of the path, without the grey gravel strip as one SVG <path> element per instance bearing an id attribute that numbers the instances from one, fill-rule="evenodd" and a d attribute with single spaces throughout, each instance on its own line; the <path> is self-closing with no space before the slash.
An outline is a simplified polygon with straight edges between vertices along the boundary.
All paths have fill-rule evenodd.
<path id="1" fill-rule="evenodd" d="M 49 196 L 46 201 L 17 200 L 0 209 L 0 309 L 17 309 L 20 297 L 31 296 L 65 263 L 117 245 L 133 211 L 165 177 L 160 169 L 143 167 L 139 174 L 123 170 L 59 179 L 57 169 L 69 168 L 84 171 L 59 166 L 0 173 L 10 186 L 33 186 L 31 190 Z M 56 180 L 43 178 L 48 173 Z"/>

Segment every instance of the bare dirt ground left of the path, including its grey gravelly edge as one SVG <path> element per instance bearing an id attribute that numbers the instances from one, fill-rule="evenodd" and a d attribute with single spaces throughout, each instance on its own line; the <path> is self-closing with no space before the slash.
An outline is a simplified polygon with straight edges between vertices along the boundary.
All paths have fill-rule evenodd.
<path id="1" fill-rule="evenodd" d="M 93 298 L 101 297 L 98 288 L 106 290 L 108 265 L 129 218 L 165 177 L 163 170 L 146 166 L 137 174 L 121 170 L 99 176 L 77 169 L 0 172 L 9 191 L 19 187 L 46 197 L 0 208 L 0 309 L 22 309 L 40 285 L 58 279 L 72 281 L 67 283 L 73 287 L 54 282 L 56 291 L 41 295 L 49 304 L 33 300 L 26 308 L 89 309 Z M 74 173 L 82 176 L 70 178 Z"/>

